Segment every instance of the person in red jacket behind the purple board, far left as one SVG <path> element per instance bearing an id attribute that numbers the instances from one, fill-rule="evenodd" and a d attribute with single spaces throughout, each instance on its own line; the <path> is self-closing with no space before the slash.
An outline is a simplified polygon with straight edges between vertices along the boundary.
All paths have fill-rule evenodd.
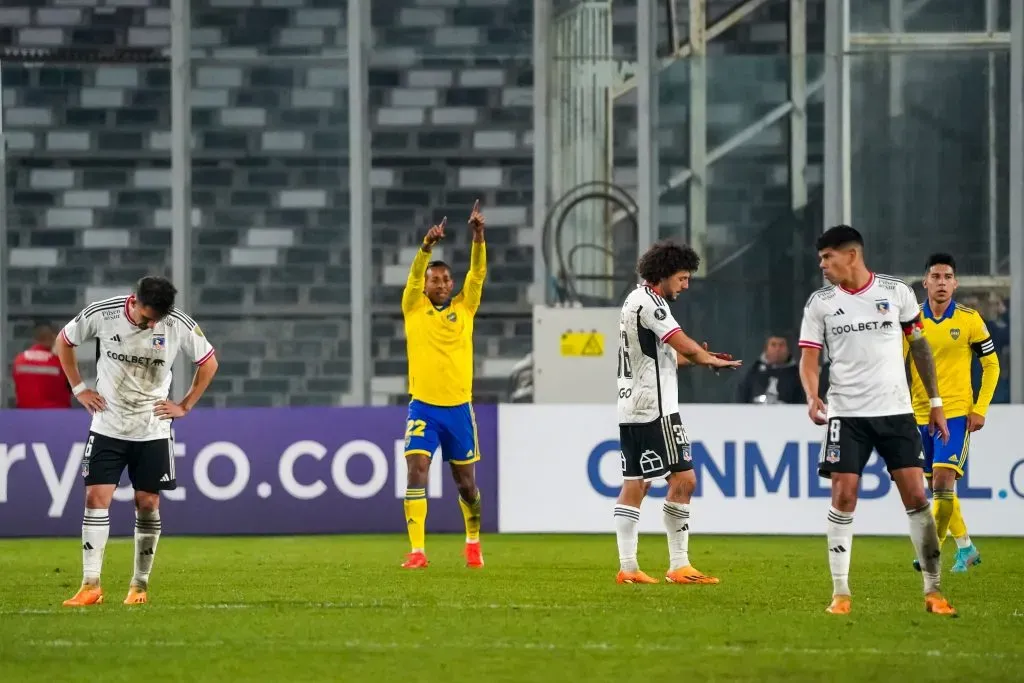
<path id="1" fill-rule="evenodd" d="M 53 353 L 56 331 L 36 326 L 33 344 L 14 357 L 14 407 L 23 410 L 71 408 L 71 386 Z"/>

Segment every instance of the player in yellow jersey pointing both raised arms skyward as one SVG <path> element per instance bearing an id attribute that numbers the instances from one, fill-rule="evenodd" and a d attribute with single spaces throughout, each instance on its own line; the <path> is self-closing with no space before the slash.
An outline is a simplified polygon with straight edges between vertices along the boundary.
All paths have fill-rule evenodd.
<path id="1" fill-rule="evenodd" d="M 409 416 L 406 421 L 406 525 L 412 551 L 401 565 L 427 566 L 424 549 L 427 519 L 427 474 L 438 445 L 452 466 L 459 488 L 459 507 L 466 520 L 466 565 L 482 567 L 480 552 L 480 492 L 476 487 L 476 461 L 480 459 L 473 417 L 473 317 L 480 307 L 487 272 L 480 203 L 473 205 L 469 225 L 473 247 L 469 273 L 462 291 L 452 297 L 452 267 L 430 260 L 434 245 L 444 238 L 447 219 L 434 225 L 413 259 L 401 312 L 406 318 L 409 354 Z"/>

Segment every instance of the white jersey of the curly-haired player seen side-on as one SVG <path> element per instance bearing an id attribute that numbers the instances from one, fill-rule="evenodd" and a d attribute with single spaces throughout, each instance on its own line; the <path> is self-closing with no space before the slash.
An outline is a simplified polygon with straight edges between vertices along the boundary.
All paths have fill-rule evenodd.
<path id="1" fill-rule="evenodd" d="M 646 424 L 679 412 L 679 332 L 669 304 L 638 285 L 618 314 L 618 424 Z"/>

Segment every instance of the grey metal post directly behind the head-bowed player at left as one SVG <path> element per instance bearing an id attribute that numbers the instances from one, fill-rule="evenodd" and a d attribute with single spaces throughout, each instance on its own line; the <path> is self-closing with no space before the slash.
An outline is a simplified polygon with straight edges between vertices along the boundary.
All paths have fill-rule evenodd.
<path id="1" fill-rule="evenodd" d="M 191 310 L 191 9 L 190 0 L 171 0 L 171 279 L 177 306 Z M 191 385 L 191 366 L 174 362 L 174 400 Z"/>

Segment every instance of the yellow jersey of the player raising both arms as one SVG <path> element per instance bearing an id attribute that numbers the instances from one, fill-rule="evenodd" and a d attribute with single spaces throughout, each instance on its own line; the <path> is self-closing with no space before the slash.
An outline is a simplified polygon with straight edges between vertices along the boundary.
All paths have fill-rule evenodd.
<path id="1" fill-rule="evenodd" d="M 462 291 L 443 306 L 434 306 L 423 293 L 429 262 L 429 253 L 417 251 L 401 295 L 409 392 L 414 400 L 431 405 L 461 405 L 473 398 L 473 317 L 483 293 L 486 246 L 473 243 Z"/>

